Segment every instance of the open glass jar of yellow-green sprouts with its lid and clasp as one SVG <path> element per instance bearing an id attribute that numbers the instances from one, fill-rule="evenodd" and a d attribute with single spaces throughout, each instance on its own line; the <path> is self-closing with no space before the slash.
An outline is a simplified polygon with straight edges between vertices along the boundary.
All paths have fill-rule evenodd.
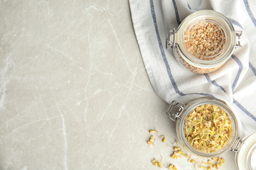
<path id="1" fill-rule="evenodd" d="M 256 133 L 244 139 L 238 137 L 238 121 L 224 101 L 211 97 L 186 105 L 173 101 L 166 116 L 176 122 L 178 141 L 192 154 L 213 158 L 232 150 L 239 169 L 255 169 Z"/>

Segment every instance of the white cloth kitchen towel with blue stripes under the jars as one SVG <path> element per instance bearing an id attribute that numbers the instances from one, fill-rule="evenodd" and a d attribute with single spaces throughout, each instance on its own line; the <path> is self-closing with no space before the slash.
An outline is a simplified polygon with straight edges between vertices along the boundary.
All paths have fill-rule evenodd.
<path id="1" fill-rule="evenodd" d="M 256 131 L 255 1 L 129 0 L 129 5 L 146 72 L 161 99 L 167 103 L 173 100 L 186 103 L 205 96 L 221 99 L 235 110 L 241 121 L 241 137 Z M 243 31 L 243 47 L 236 48 L 218 71 L 198 75 L 179 65 L 173 51 L 165 49 L 165 40 L 169 30 L 202 9 L 221 12 L 236 31 Z"/>

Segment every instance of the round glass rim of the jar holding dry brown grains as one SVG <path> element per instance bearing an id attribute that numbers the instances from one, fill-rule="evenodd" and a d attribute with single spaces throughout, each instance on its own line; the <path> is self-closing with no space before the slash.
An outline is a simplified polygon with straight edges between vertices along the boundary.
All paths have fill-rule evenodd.
<path id="1" fill-rule="evenodd" d="M 223 49 L 221 49 L 219 54 L 215 56 L 215 58 L 210 59 L 208 56 L 205 56 L 205 58 L 202 58 L 202 56 L 198 58 L 197 55 L 193 55 L 189 52 L 188 47 L 184 42 L 184 33 L 186 32 L 186 29 L 188 29 L 191 24 L 193 24 L 197 20 L 216 22 L 223 29 L 223 35 L 226 38 L 226 43 L 224 44 L 224 47 Z M 234 50 L 235 43 L 236 34 L 232 23 L 230 22 L 230 20 L 228 20 L 228 18 L 226 18 L 226 16 L 219 12 L 216 12 L 215 10 L 200 10 L 198 12 L 190 14 L 182 21 L 181 25 L 177 30 L 176 44 L 178 46 L 179 52 L 183 54 L 181 55 L 182 58 L 190 65 L 202 69 L 217 67 L 225 63 L 230 58 Z M 205 45 L 205 48 L 207 48 L 207 45 Z M 205 55 L 207 54 L 205 53 Z"/>

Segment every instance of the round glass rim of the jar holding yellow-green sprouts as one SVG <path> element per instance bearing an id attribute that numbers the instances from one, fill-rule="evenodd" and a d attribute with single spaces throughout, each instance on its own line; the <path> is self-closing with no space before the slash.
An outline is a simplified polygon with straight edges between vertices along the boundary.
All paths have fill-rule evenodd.
<path id="1" fill-rule="evenodd" d="M 196 99 L 188 104 L 189 104 L 189 107 L 187 109 L 185 109 L 184 112 L 182 112 L 182 116 L 181 116 L 182 118 L 176 127 L 177 131 L 179 131 L 179 133 L 180 133 L 181 141 L 182 141 L 182 144 L 184 145 L 184 147 L 187 148 L 188 150 L 190 150 L 190 152 L 192 152 L 193 154 L 196 154 L 197 156 L 206 157 L 206 158 L 213 158 L 213 157 L 219 156 L 219 155 L 223 154 L 223 152 L 226 152 L 226 150 L 229 150 L 234 145 L 234 143 L 236 141 L 236 137 L 238 136 L 238 122 L 236 120 L 236 116 L 235 116 L 234 112 L 232 111 L 232 109 L 230 109 L 230 107 L 228 107 L 228 105 L 226 105 L 226 103 L 224 103 L 223 101 L 218 100 L 218 99 L 209 99 L 209 97 L 202 97 L 202 98 Z M 226 111 L 226 113 L 232 120 L 232 126 L 233 126 L 232 138 L 230 139 L 230 141 L 228 141 L 228 143 L 220 150 L 218 150 L 216 152 L 211 152 L 211 153 L 201 152 L 201 151 L 196 150 L 188 143 L 187 139 L 184 136 L 184 120 L 185 120 L 184 118 L 186 118 L 186 116 L 188 116 L 188 114 L 191 112 L 191 110 L 195 109 L 196 107 L 198 107 L 200 105 L 207 105 L 207 104 L 217 105 L 218 107 L 221 107 L 221 109 Z"/>

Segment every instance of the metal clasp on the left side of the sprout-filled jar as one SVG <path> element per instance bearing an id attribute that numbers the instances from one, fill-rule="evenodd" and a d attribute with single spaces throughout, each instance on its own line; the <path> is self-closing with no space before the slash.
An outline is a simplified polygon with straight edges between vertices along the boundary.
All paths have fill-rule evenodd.
<path id="1" fill-rule="evenodd" d="M 176 101 L 172 101 L 165 115 L 169 116 L 169 118 L 173 121 L 180 120 L 180 116 L 184 110 L 184 106 L 185 105 L 183 103 L 176 103 Z"/>

